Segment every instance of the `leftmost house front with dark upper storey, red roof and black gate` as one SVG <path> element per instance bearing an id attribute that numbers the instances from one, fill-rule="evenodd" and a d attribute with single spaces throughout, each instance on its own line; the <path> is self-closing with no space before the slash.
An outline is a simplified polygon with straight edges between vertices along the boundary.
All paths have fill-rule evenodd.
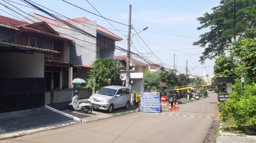
<path id="1" fill-rule="evenodd" d="M 44 22 L 0 15 L 0 112 L 44 106 L 44 61 L 64 61 L 69 41 Z"/>

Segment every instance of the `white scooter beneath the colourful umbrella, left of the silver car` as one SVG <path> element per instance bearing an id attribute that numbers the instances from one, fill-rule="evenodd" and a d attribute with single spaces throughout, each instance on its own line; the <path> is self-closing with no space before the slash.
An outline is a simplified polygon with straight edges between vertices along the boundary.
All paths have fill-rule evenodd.
<path id="1" fill-rule="evenodd" d="M 76 91 L 75 91 L 76 94 Z M 71 106 L 73 108 L 71 108 Z M 70 110 L 75 110 L 75 111 L 81 111 L 81 112 L 85 112 L 86 114 L 91 114 L 93 107 L 92 107 L 92 103 L 90 103 L 90 101 L 79 101 L 79 98 L 76 94 L 76 96 L 74 96 L 72 98 L 72 102 L 69 103 L 69 109 Z"/>

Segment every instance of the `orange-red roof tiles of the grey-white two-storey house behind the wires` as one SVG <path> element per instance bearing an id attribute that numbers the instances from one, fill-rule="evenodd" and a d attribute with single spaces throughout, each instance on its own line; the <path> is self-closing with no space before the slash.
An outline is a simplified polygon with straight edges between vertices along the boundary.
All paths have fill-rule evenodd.
<path id="1" fill-rule="evenodd" d="M 39 14 L 36 14 L 38 15 L 38 17 L 44 21 L 46 21 L 46 23 L 48 24 L 51 24 L 52 26 L 61 26 L 61 25 L 65 25 L 63 22 L 61 21 L 58 21 L 58 20 L 54 20 L 54 19 L 50 19 L 50 18 L 47 18 L 46 16 L 42 16 L 42 15 L 39 15 Z M 85 17 L 82 17 L 82 18 L 75 18 L 75 19 L 67 19 L 65 20 L 67 21 L 68 23 L 70 24 L 76 24 L 76 23 L 86 23 L 86 22 L 89 22 L 90 20 L 89 19 L 86 19 Z M 109 34 L 110 36 L 113 36 L 115 38 L 118 38 L 119 40 L 123 40 L 121 37 L 117 36 L 116 34 L 108 31 L 106 28 L 104 27 L 101 27 L 100 25 L 97 24 L 97 30 L 98 31 L 101 31 L 103 33 L 106 33 L 106 34 Z"/>

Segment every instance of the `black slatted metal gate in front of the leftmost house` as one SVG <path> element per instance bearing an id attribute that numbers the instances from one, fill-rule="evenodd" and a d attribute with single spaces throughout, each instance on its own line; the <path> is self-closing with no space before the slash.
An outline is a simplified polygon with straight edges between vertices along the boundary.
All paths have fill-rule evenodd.
<path id="1" fill-rule="evenodd" d="M 0 78 L 0 112 L 44 106 L 44 78 Z"/>

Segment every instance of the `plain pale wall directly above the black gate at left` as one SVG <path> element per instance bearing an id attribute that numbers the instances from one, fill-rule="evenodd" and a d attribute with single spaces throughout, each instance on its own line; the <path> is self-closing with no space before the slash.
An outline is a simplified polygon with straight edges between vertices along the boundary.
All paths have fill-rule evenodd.
<path id="1" fill-rule="evenodd" d="M 0 52 L 0 77 L 44 77 L 44 54 Z"/>

